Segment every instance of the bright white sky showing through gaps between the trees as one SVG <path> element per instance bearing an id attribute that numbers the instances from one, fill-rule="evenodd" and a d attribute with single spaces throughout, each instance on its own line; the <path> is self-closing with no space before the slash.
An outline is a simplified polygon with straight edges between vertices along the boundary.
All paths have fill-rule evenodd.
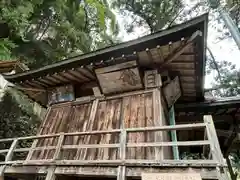
<path id="1" fill-rule="evenodd" d="M 191 6 L 195 5 L 196 1 L 194 0 L 186 0 L 188 6 L 186 8 L 191 8 Z M 240 50 L 238 49 L 235 41 L 232 37 L 219 40 L 218 37 L 222 36 L 224 32 L 227 30 L 223 30 L 222 26 L 219 25 L 216 20 L 212 20 L 211 17 L 217 16 L 218 14 L 214 14 L 214 12 L 210 11 L 209 17 L 209 25 L 208 25 L 208 37 L 207 37 L 207 46 L 211 49 L 215 59 L 217 61 L 228 61 L 232 62 L 236 65 L 237 68 L 240 68 Z M 137 27 L 134 29 L 132 33 L 126 33 L 124 29 L 124 21 L 126 21 L 126 17 L 117 14 L 117 19 L 120 24 L 120 38 L 123 41 L 129 41 L 132 39 L 137 39 L 138 37 L 144 36 L 147 34 L 147 30 L 143 27 Z M 223 23 L 223 22 L 222 22 Z M 212 83 L 214 82 L 215 72 L 207 75 L 205 78 L 205 88 L 212 87 Z"/>

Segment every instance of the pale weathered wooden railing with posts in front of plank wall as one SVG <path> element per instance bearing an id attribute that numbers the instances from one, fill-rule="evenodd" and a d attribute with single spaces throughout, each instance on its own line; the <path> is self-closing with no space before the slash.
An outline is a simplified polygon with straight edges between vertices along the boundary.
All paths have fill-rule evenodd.
<path id="1" fill-rule="evenodd" d="M 101 166 L 225 166 L 223 157 L 221 155 L 220 147 L 217 141 L 214 126 L 205 120 L 204 123 L 183 124 L 174 126 L 161 127 L 142 127 L 142 128 L 126 128 L 126 129 L 112 129 L 105 131 L 91 131 L 91 132 L 74 132 L 74 133 L 58 133 L 51 135 L 39 135 L 19 138 L 0 139 L 0 143 L 10 142 L 11 146 L 8 149 L 0 150 L 0 154 L 5 154 L 5 161 L 0 162 L 1 165 L 19 164 L 19 165 L 101 165 Z M 192 130 L 198 128 L 205 128 L 206 139 L 201 141 L 178 141 L 178 142 L 143 142 L 143 143 L 127 143 L 127 136 L 129 133 L 136 132 L 155 132 L 155 131 L 171 131 L 171 130 Z M 119 134 L 120 141 L 115 144 L 78 144 L 78 145 L 64 145 L 63 141 L 68 136 L 86 136 L 96 134 Z M 20 141 L 24 140 L 41 140 L 46 138 L 58 138 L 57 145 L 29 148 L 17 148 Z M 33 141 L 34 143 L 34 141 Z M 126 148 L 133 147 L 171 147 L 171 146 L 209 146 L 210 159 L 204 160 L 144 160 L 144 159 L 127 159 Z M 116 160 L 61 160 L 59 155 L 61 151 L 66 149 L 81 149 L 81 148 L 118 148 L 119 158 Z M 206 148 L 203 148 L 206 149 Z M 31 154 L 36 150 L 54 150 L 54 155 L 51 159 L 31 160 L 25 158 L 23 160 L 13 160 L 14 153 L 27 152 Z"/>

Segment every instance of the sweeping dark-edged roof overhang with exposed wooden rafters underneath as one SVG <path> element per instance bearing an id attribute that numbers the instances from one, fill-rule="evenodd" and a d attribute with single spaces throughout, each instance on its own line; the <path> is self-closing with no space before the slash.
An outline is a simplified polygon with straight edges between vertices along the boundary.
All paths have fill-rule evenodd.
<path id="1" fill-rule="evenodd" d="M 180 101 L 204 99 L 205 49 L 208 14 L 142 38 L 72 57 L 36 70 L 4 76 L 32 99 L 46 104 L 46 90 L 63 84 L 97 82 L 95 68 L 137 60 L 140 69 L 177 73 L 182 85 Z M 42 89 L 38 93 L 32 88 Z"/>

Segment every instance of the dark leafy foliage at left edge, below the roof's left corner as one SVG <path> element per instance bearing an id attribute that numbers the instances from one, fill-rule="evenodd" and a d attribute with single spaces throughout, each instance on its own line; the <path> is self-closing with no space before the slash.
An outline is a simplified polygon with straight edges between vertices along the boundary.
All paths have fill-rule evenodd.
<path id="1" fill-rule="evenodd" d="M 0 102 L 0 137 L 19 137 L 35 134 L 40 119 L 29 108 L 29 102 L 18 97 L 14 89 L 4 92 Z M 20 98 L 20 99 L 19 99 Z M 21 100 L 21 101 L 19 101 Z"/>

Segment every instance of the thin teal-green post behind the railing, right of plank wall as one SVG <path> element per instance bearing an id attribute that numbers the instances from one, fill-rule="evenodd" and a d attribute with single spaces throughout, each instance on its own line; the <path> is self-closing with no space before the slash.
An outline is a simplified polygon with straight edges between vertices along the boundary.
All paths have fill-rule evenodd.
<path id="1" fill-rule="evenodd" d="M 174 126 L 176 124 L 175 122 L 175 113 L 174 113 L 174 106 L 172 105 L 170 111 L 169 111 L 169 124 L 171 126 Z M 176 130 L 172 130 L 171 131 L 171 139 L 172 142 L 177 142 L 177 132 Z M 178 150 L 178 146 L 172 146 L 172 150 L 173 150 L 173 157 L 175 160 L 179 160 L 179 150 Z"/>

